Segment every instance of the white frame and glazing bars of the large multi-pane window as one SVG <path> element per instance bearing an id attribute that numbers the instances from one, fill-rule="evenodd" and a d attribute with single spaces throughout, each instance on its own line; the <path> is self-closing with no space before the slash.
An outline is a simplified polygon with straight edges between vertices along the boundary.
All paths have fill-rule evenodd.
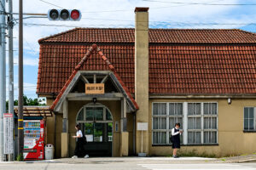
<path id="1" fill-rule="evenodd" d="M 166 115 L 163 116 L 154 116 L 153 111 L 154 111 L 154 104 L 160 104 L 164 103 L 166 104 Z M 152 144 L 154 144 L 154 132 L 166 132 L 166 144 L 171 144 L 169 142 L 170 138 L 170 133 L 172 133 L 172 129 L 169 129 L 169 118 L 170 117 L 177 117 L 177 116 L 170 116 L 169 114 L 169 104 L 171 103 L 182 103 L 183 104 L 183 144 L 189 144 L 188 143 L 188 137 L 189 137 L 189 132 L 200 132 L 201 133 L 201 143 L 197 144 L 218 144 L 218 102 L 217 101 L 210 101 L 210 102 L 197 102 L 197 101 L 189 101 L 189 102 L 152 102 Z M 195 115 L 195 116 L 189 116 L 188 115 L 188 105 L 189 103 L 200 103 L 201 104 L 201 115 Z M 217 114 L 216 115 L 204 115 L 204 104 L 216 104 L 217 105 Z M 254 108 L 254 119 L 256 116 L 256 108 Z M 166 117 L 166 129 L 153 129 L 154 126 L 154 117 Z M 189 122 L 188 119 L 189 117 L 201 117 L 201 129 L 188 129 L 189 127 Z M 204 118 L 205 117 L 216 117 L 216 129 L 204 129 Z M 256 126 L 256 122 L 254 123 L 254 126 Z M 204 143 L 204 132 L 216 132 L 216 143 Z M 164 144 L 163 144 L 164 145 Z M 189 145 L 196 145 L 196 144 L 189 144 Z"/>

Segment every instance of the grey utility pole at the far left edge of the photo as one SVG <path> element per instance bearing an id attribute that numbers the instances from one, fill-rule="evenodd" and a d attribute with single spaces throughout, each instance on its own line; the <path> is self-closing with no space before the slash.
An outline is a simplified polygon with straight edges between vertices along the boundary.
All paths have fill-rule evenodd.
<path id="1" fill-rule="evenodd" d="M 5 52 L 5 0 L 0 0 L 0 161 L 4 161 L 3 155 L 3 113 L 6 111 L 6 52 Z"/>

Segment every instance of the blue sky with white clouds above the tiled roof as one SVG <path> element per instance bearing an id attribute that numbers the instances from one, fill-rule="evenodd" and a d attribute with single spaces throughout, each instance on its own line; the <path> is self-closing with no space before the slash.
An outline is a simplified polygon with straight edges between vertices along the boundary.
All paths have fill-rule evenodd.
<path id="1" fill-rule="evenodd" d="M 28 98 L 37 98 L 38 39 L 74 27 L 134 27 L 135 7 L 149 7 L 151 28 L 238 28 L 256 32 L 255 0 L 23 0 L 23 2 L 24 13 L 47 14 L 52 8 L 76 8 L 82 12 L 80 21 L 24 19 L 24 94 Z M 19 0 L 13 0 L 13 4 L 14 13 L 18 13 Z M 18 15 L 14 17 L 18 19 Z M 16 20 L 15 99 L 18 98 L 18 25 Z M 6 87 L 8 90 L 8 86 Z"/>

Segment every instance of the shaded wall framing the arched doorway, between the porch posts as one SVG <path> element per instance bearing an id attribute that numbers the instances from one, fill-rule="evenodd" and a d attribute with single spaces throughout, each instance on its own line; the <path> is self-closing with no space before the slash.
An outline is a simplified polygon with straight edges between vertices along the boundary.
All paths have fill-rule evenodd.
<path id="1" fill-rule="evenodd" d="M 91 101 L 68 101 L 68 133 L 69 133 L 69 156 L 73 156 L 75 149 L 75 135 L 76 116 L 79 110 Z M 121 103 L 120 101 L 97 101 L 102 105 L 108 107 L 113 116 L 113 156 L 119 156 L 120 151 L 120 116 L 121 116 Z M 115 132 L 115 122 L 119 122 L 119 132 Z"/>

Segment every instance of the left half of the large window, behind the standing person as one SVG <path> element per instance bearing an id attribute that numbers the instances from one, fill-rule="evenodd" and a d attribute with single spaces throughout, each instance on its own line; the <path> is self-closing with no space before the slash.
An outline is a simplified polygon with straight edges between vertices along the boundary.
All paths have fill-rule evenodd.
<path id="1" fill-rule="evenodd" d="M 170 144 L 169 139 L 176 122 L 183 127 L 183 103 L 154 103 L 153 144 Z"/>

